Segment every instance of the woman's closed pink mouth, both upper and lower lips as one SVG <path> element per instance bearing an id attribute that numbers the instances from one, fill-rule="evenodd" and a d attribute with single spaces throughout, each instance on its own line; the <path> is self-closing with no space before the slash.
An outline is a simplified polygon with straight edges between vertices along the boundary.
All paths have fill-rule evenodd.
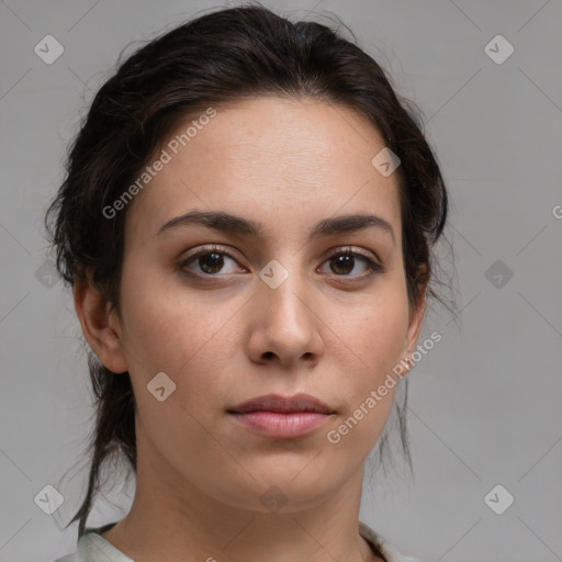
<path id="1" fill-rule="evenodd" d="M 228 409 L 245 429 L 261 437 L 289 439 L 311 434 L 336 412 L 307 394 L 258 396 Z"/>

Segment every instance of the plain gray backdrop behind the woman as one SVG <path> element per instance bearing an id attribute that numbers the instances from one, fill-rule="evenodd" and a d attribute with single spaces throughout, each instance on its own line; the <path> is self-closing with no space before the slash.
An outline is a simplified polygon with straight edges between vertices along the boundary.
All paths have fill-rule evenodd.
<path id="1" fill-rule="evenodd" d="M 415 477 L 366 482 L 361 519 L 420 561 L 562 560 L 562 3 L 263 3 L 324 23 L 334 12 L 353 30 L 424 111 L 452 198 L 462 315 L 436 306 L 419 340 L 443 336 L 409 374 Z M 0 1 L 2 562 L 76 547 L 76 526 L 60 527 L 81 499 L 83 464 L 54 515 L 34 503 L 80 460 L 93 419 L 81 331 L 61 281 L 48 286 L 42 234 L 66 145 L 123 47 L 221 5 Z M 65 48 L 52 65 L 34 53 L 47 34 Z M 497 34 L 515 48 L 503 64 L 484 50 Z M 485 273 L 496 260 L 507 282 Z M 484 502 L 497 484 L 515 497 L 503 515 Z M 89 522 L 123 516 L 127 490 Z"/>

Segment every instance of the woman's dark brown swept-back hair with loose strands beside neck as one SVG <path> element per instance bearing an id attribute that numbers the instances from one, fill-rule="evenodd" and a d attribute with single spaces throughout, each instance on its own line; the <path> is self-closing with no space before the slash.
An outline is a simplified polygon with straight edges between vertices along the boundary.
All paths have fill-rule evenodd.
<path id="1" fill-rule="evenodd" d="M 347 27 L 346 27 L 347 29 Z M 111 205 L 142 173 L 182 120 L 210 105 L 277 95 L 314 98 L 363 115 L 401 159 L 402 250 L 408 304 L 425 295 L 450 303 L 432 286 L 437 263 L 431 248 L 442 234 L 448 196 L 441 172 L 422 131 L 414 104 L 394 92 L 391 78 L 355 43 L 312 21 L 292 22 L 260 5 L 214 11 L 148 42 L 95 94 L 69 145 L 66 176 L 45 225 L 66 286 L 91 277 L 120 315 L 120 284 L 126 210 L 105 218 Z M 85 532 L 105 460 L 117 456 L 136 474 L 135 396 L 128 372 L 116 374 L 88 350 L 95 401 L 90 436 L 88 490 L 70 520 Z M 407 380 L 401 381 L 407 390 Z M 395 402 L 404 453 L 406 395 Z M 386 430 L 386 428 L 385 428 Z M 386 434 L 378 441 L 381 452 Z M 67 525 L 67 527 L 68 527 Z"/>

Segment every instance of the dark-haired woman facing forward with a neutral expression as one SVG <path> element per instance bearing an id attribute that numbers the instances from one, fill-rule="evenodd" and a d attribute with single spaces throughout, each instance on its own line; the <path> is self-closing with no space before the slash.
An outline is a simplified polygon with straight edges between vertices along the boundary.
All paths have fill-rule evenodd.
<path id="1" fill-rule="evenodd" d="M 359 521 L 447 192 L 384 71 L 328 27 L 216 11 L 100 89 L 47 213 L 98 397 L 59 562 L 408 560 Z M 86 528 L 102 462 L 130 513 Z M 411 559 L 409 559 L 411 560 Z"/>

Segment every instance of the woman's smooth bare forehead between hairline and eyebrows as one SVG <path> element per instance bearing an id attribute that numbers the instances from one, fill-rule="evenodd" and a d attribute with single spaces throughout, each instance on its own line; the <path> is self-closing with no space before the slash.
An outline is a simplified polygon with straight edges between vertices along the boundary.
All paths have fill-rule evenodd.
<path id="1" fill-rule="evenodd" d="M 151 236 L 193 207 L 246 216 L 271 236 L 286 234 L 289 222 L 295 234 L 299 225 L 367 211 L 400 231 L 396 175 L 371 164 L 383 147 L 366 117 L 314 99 L 266 97 L 202 111 L 162 144 L 166 155 L 156 158 L 166 164 L 130 204 L 128 235 Z"/>

